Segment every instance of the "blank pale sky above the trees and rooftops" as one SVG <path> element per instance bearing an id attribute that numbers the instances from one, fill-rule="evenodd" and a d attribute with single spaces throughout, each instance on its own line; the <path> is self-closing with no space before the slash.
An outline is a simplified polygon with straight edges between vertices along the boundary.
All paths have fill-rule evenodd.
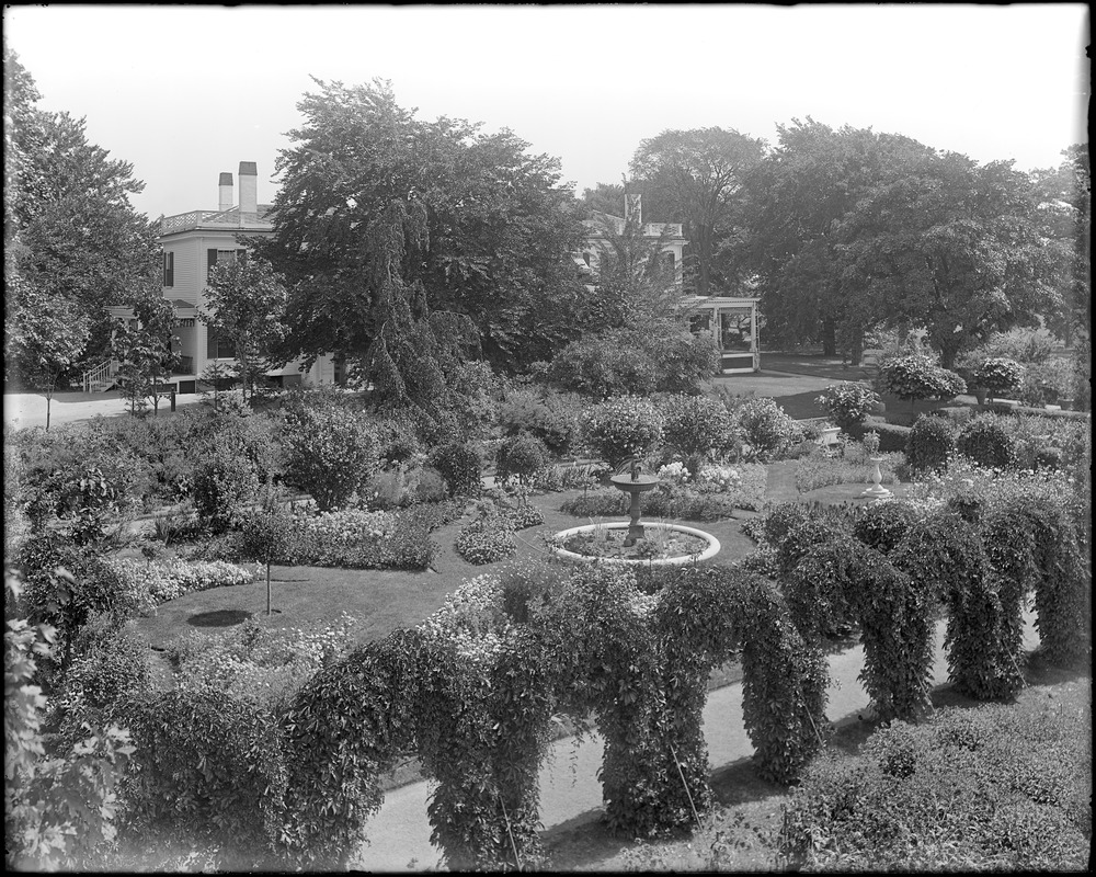
<path id="1" fill-rule="evenodd" d="M 39 107 L 87 116 L 151 217 L 215 209 L 277 150 L 311 77 L 389 79 L 419 117 L 511 128 L 582 189 L 640 140 L 719 126 L 769 143 L 812 116 L 979 161 L 1057 166 L 1086 139 L 1087 8 L 990 5 L 7 7 Z"/>

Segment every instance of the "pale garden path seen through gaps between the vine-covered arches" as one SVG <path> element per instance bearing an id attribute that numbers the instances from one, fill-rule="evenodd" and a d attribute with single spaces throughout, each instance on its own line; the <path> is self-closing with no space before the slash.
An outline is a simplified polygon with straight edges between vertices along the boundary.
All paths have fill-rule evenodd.
<path id="1" fill-rule="evenodd" d="M 934 684 L 948 684 L 948 665 L 944 652 L 946 622 L 936 627 Z M 1025 618 L 1025 649 L 1034 649 L 1038 634 L 1034 615 Z M 830 702 L 826 715 L 836 725 L 858 721 L 868 706 L 868 695 L 857 680 L 864 665 L 859 646 L 838 654 L 830 662 Z M 742 683 L 734 682 L 708 695 L 704 709 L 708 758 L 712 771 L 747 760 L 753 744 L 742 719 Z M 596 734 L 576 744 L 574 738 L 557 740 L 548 762 L 540 771 L 540 819 L 545 840 L 551 846 L 566 846 L 567 834 L 597 820 L 602 812 L 602 787 L 597 768 L 602 761 L 602 740 Z M 426 802 L 431 793 L 427 782 L 413 783 L 385 795 L 380 812 L 366 824 L 369 842 L 352 859 L 351 867 L 366 872 L 403 872 L 436 868 L 441 855 L 430 842 Z"/>

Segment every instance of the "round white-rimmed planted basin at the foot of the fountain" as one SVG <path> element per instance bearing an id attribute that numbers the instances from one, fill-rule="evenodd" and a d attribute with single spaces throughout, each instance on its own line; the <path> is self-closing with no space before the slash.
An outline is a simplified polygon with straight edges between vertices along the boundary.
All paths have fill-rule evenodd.
<path id="1" fill-rule="evenodd" d="M 682 524 L 646 523 L 646 537 L 625 546 L 628 522 L 586 524 L 557 533 L 549 546 L 559 557 L 593 563 L 681 566 L 719 554 L 719 539 Z"/>

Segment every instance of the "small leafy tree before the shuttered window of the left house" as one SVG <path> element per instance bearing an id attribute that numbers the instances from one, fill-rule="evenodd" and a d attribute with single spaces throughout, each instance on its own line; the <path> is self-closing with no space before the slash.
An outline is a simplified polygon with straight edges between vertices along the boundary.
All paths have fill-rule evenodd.
<path id="1" fill-rule="evenodd" d="M 263 374 L 284 364 L 276 352 L 287 334 L 285 284 L 270 263 L 244 255 L 210 270 L 205 300 L 208 310 L 199 312 L 199 319 L 231 343 L 235 376 L 248 399 Z"/>

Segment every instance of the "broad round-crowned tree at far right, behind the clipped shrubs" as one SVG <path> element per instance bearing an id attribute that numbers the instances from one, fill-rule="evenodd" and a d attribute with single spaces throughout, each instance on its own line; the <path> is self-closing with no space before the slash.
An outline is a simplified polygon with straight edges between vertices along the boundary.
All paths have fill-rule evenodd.
<path id="1" fill-rule="evenodd" d="M 1062 310 L 1064 252 L 1011 161 L 924 153 L 858 201 L 838 236 L 854 353 L 865 324 L 912 323 L 950 367 L 993 332 Z"/>

